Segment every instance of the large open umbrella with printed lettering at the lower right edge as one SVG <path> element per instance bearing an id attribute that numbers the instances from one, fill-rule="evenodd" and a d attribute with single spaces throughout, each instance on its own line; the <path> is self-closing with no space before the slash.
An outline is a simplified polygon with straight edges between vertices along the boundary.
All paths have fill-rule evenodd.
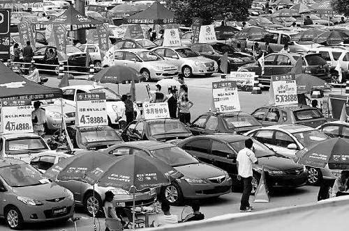
<path id="1" fill-rule="evenodd" d="M 299 164 L 330 169 L 349 170 L 349 140 L 330 138 L 297 152 Z"/>

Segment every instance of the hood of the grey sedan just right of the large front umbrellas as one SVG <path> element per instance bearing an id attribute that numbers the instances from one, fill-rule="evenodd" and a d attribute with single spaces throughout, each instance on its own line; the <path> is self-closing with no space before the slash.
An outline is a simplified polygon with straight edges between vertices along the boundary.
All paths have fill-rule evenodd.
<path id="1" fill-rule="evenodd" d="M 218 177 L 225 175 L 223 170 L 216 168 L 208 164 L 188 164 L 185 166 L 174 167 L 179 173 L 182 173 L 184 177 L 192 179 L 207 179 L 211 177 Z"/>

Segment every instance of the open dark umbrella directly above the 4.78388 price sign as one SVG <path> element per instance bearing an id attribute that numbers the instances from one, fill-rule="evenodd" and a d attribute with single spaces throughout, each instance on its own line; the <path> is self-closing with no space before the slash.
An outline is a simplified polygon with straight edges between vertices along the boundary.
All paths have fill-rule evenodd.
<path id="1" fill-rule="evenodd" d="M 142 79 L 142 74 L 124 65 L 115 65 L 112 67 L 105 67 L 103 70 L 91 77 L 91 80 L 101 83 L 131 83 L 134 79 L 136 83 Z"/>

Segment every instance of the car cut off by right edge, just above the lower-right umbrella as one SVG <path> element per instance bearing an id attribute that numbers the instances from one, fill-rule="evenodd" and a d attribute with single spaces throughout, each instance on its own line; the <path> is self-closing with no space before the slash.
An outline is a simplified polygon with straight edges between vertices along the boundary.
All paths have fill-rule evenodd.
<path id="1" fill-rule="evenodd" d="M 333 122 L 325 122 L 320 125 L 316 129 L 325 133 L 327 136 L 331 138 L 341 137 L 341 138 L 349 138 L 349 122 L 344 121 L 333 121 Z"/>

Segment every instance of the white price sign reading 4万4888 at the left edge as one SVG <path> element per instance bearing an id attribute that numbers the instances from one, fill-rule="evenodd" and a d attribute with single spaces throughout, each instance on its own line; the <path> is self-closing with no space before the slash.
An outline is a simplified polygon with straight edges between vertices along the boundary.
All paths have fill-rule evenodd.
<path id="1" fill-rule="evenodd" d="M 30 99 L 3 99 L 1 101 L 1 129 L 3 134 L 33 132 Z"/>

